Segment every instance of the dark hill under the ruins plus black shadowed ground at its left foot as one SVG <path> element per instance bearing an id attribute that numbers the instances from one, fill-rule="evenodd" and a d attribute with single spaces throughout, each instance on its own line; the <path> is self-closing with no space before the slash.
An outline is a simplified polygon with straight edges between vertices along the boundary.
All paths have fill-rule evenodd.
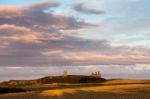
<path id="1" fill-rule="evenodd" d="M 34 80 L 10 80 L 0 83 L 0 93 L 14 93 L 25 91 L 41 91 L 46 89 L 82 86 L 81 83 L 101 83 L 104 78 L 83 75 L 47 76 Z M 57 84 L 57 85 L 55 85 Z"/>

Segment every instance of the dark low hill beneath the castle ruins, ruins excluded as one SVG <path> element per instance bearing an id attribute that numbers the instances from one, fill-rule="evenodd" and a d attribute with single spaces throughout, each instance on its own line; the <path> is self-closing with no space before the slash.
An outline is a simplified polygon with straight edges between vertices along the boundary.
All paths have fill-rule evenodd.
<path id="1" fill-rule="evenodd" d="M 0 86 L 21 86 L 21 85 L 34 85 L 34 84 L 50 84 L 50 83 L 100 83 L 104 82 L 104 78 L 96 78 L 83 75 L 68 75 L 62 76 L 47 76 L 34 80 L 10 80 L 0 83 Z"/>

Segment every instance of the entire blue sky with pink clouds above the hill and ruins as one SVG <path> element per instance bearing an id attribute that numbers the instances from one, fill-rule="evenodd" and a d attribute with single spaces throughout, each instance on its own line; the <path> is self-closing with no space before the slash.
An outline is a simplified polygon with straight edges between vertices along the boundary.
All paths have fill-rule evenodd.
<path id="1" fill-rule="evenodd" d="M 150 0 L 0 0 L 0 81 L 150 79 Z"/>

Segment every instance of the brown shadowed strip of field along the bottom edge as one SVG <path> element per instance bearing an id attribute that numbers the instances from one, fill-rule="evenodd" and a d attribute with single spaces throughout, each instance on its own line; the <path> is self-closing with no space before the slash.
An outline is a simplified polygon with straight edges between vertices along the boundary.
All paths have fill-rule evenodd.
<path id="1" fill-rule="evenodd" d="M 65 93 L 61 96 L 42 96 L 36 92 L 18 95 L 0 95 L 0 99 L 150 99 L 150 94 L 115 94 L 77 91 L 74 94 Z"/>

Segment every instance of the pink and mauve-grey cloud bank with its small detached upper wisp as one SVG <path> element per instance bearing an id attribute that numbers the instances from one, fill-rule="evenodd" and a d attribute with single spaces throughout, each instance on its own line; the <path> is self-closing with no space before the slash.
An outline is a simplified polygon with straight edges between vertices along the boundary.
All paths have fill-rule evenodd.
<path id="1" fill-rule="evenodd" d="M 97 24 L 46 11 L 58 6 L 58 3 L 37 3 L 0 7 L 1 66 L 150 64 L 149 48 L 113 46 L 108 40 L 68 35 L 69 30 Z M 86 13 L 100 13 L 82 4 L 76 6 Z"/>

